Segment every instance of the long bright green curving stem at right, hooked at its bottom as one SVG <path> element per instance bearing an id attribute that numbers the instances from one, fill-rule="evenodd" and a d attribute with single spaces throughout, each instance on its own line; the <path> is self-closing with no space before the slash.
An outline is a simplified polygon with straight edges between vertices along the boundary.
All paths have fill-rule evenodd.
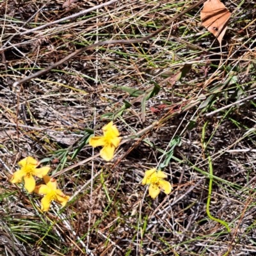
<path id="1" fill-rule="evenodd" d="M 224 225 L 227 228 L 227 231 L 229 233 L 230 232 L 230 228 L 228 227 L 228 223 L 226 221 L 214 218 L 213 216 L 211 216 L 211 213 L 210 213 L 210 203 L 211 203 L 211 194 L 212 194 L 212 175 L 213 175 L 213 172 L 212 172 L 212 159 L 211 159 L 211 156 L 207 152 L 207 145 L 205 143 L 205 128 L 206 128 L 207 124 L 208 124 L 208 121 L 204 124 L 203 130 L 202 130 L 202 142 L 203 142 L 203 147 L 204 147 L 204 150 L 205 150 L 205 154 L 207 155 L 207 159 L 208 159 L 208 162 L 209 162 L 209 173 L 210 173 L 210 176 L 209 176 L 210 180 L 209 180 L 208 198 L 207 198 L 207 204 L 206 204 L 206 213 L 207 213 L 207 216 L 211 220 L 217 221 L 218 223 L 221 223 L 222 225 Z"/>

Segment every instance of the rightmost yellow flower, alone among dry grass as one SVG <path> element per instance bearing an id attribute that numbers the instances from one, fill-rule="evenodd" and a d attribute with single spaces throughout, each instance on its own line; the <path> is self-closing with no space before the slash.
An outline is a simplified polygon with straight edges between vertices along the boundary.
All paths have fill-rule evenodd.
<path id="1" fill-rule="evenodd" d="M 151 169 L 145 172 L 145 177 L 142 180 L 142 185 L 150 184 L 148 188 L 149 195 L 155 199 L 161 189 L 164 193 L 170 194 L 172 191 L 172 185 L 170 182 L 163 180 L 167 175 L 161 171 L 156 171 L 156 169 Z"/>

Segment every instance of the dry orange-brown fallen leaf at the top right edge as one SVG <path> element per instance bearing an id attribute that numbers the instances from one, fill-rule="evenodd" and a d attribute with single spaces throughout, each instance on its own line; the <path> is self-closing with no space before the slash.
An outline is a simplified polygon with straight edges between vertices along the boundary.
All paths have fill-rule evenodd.
<path id="1" fill-rule="evenodd" d="M 231 13 L 220 0 L 207 0 L 200 12 L 203 25 L 210 31 L 221 45 L 221 40 L 227 29 L 227 22 Z"/>

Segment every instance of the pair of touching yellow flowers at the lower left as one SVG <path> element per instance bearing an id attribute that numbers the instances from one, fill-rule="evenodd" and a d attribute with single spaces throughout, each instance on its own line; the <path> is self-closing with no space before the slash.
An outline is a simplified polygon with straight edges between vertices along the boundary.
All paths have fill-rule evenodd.
<path id="1" fill-rule="evenodd" d="M 13 173 L 10 181 L 12 183 L 20 183 L 23 178 L 24 187 L 29 193 L 34 191 L 35 193 L 45 195 L 41 200 L 42 211 L 48 211 L 50 209 L 52 200 L 59 202 L 62 206 L 67 204 L 69 196 L 66 196 L 60 189 L 57 189 L 56 180 L 47 175 L 50 167 L 44 166 L 42 168 L 36 168 L 40 163 L 31 156 L 22 159 L 18 164 L 21 168 Z M 46 185 L 36 186 L 36 181 L 33 176 L 43 178 Z"/>

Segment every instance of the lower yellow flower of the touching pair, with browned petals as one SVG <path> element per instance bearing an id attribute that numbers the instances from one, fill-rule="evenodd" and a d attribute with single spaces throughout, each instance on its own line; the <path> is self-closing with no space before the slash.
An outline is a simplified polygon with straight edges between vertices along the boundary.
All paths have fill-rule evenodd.
<path id="1" fill-rule="evenodd" d="M 35 188 L 35 193 L 45 195 L 41 200 L 41 209 L 46 212 L 50 209 L 51 202 L 54 200 L 65 206 L 68 202 L 69 196 L 66 196 L 60 189 L 57 189 L 57 181 L 48 175 L 44 176 L 46 185 L 39 185 Z"/>

